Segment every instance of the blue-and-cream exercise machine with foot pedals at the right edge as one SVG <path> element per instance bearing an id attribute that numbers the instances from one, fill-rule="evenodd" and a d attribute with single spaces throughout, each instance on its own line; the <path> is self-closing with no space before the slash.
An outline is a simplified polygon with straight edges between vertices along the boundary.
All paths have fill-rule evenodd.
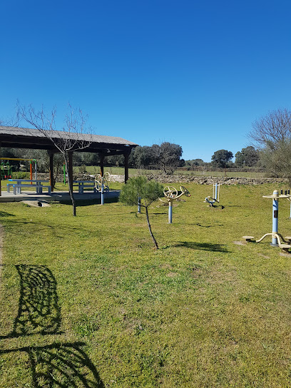
<path id="1" fill-rule="evenodd" d="M 287 236 L 283 238 L 283 236 L 278 232 L 278 220 L 279 220 L 279 199 L 285 198 L 289 201 L 290 199 L 290 190 L 287 193 L 285 190 L 285 194 L 283 194 L 283 190 L 281 190 L 281 194 L 279 195 L 278 190 L 274 190 L 272 195 L 263 195 L 262 198 L 272 198 L 272 233 L 266 233 L 259 240 L 255 240 L 255 242 L 261 242 L 265 237 L 272 236 L 272 242 L 270 245 L 272 247 L 280 247 L 285 252 L 288 252 L 291 248 L 291 237 Z M 245 238 L 247 242 L 253 242 L 253 236 L 242 236 Z M 282 240 L 282 241 L 281 241 Z M 283 243 L 284 242 L 284 243 Z"/>

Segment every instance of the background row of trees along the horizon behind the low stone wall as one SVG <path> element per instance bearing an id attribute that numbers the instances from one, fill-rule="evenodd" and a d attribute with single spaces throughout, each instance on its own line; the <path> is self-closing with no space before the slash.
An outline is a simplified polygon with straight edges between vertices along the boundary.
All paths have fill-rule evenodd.
<path id="1" fill-rule="evenodd" d="M 188 169 L 197 166 L 260 167 L 265 168 L 270 176 L 291 178 L 291 111 L 287 108 L 279 108 L 258 118 L 252 123 L 249 137 L 252 146 L 242 148 L 235 153 L 235 156 L 230 150 L 217 150 L 213 153 L 210 163 L 200 158 L 184 160 L 182 147 L 169 142 L 133 148 L 128 163 L 131 168 L 160 169 L 166 174 L 182 167 Z M 1 148 L 1 157 L 35 158 L 38 160 L 40 172 L 48 170 L 49 160 L 44 150 Z M 233 158 L 235 158 L 234 161 Z M 55 159 L 56 174 L 58 174 L 58 170 L 62 170 L 63 160 L 57 156 Z M 96 153 L 74 153 L 75 165 L 99 165 L 99 163 L 99 155 Z M 124 157 L 123 155 L 108 156 L 104 163 L 107 166 L 123 166 Z"/>

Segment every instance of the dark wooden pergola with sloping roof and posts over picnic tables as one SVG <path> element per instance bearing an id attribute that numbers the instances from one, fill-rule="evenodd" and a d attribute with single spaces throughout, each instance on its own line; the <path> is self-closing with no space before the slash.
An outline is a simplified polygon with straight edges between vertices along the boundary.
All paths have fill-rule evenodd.
<path id="1" fill-rule="evenodd" d="M 50 138 L 48 138 L 38 129 L 0 126 L 0 147 L 47 150 L 50 160 L 50 184 L 51 190 L 53 191 L 53 155 L 55 153 L 59 153 L 59 150 L 56 148 L 53 140 L 65 140 L 68 136 L 71 138 L 81 138 L 82 141 L 87 143 L 86 148 L 79 149 L 78 146 L 76 146 L 76 149 L 72 148 L 72 150 L 68 153 L 68 168 L 70 169 L 71 176 L 73 176 L 73 152 L 76 151 L 98 153 L 101 160 L 101 175 L 103 175 L 104 172 L 104 158 L 106 156 L 124 155 L 125 182 L 128 180 L 128 157 L 132 148 L 138 146 L 138 144 L 127 141 L 123 138 L 78 133 L 68 134 L 63 131 L 50 131 Z"/>

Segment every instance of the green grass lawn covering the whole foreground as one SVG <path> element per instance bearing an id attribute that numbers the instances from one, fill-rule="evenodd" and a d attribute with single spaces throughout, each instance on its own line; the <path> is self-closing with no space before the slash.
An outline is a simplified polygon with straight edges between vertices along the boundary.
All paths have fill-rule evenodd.
<path id="1" fill-rule="evenodd" d="M 1 203 L 0 386 L 290 387 L 291 255 L 280 186 L 209 185 L 146 216 L 121 203 Z M 282 186 L 282 188 L 284 188 Z M 290 203 L 279 231 L 290 235 Z"/>

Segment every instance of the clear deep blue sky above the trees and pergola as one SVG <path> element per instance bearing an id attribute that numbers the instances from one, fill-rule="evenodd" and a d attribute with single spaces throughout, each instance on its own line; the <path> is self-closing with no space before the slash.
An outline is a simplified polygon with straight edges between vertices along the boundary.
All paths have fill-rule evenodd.
<path id="1" fill-rule="evenodd" d="M 1 0 L 0 118 L 70 102 L 95 133 L 183 158 L 249 144 L 291 108 L 291 1 Z"/>

